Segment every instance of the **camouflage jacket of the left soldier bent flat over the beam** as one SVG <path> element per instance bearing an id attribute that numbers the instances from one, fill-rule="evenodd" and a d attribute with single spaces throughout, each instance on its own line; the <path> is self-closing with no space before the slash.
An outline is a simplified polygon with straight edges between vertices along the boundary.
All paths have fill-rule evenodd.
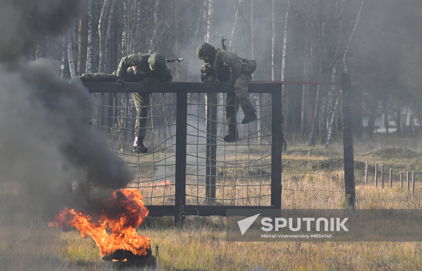
<path id="1" fill-rule="evenodd" d="M 153 82 L 172 81 L 171 70 L 165 65 L 164 70 L 150 70 L 148 58 L 151 54 L 130 54 L 122 57 L 119 68 L 117 68 L 117 78 L 127 82 L 141 82 L 150 78 Z"/>

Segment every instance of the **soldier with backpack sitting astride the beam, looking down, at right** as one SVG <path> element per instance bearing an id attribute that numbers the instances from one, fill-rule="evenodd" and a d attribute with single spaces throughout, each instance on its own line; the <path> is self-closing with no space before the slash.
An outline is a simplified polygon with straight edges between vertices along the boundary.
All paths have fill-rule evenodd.
<path id="1" fill-rule="evenodd" d="M 249 100 L 248 87 L 252 76 L 242 73 L 242 62 L 235 53 L 222 49 L 216 50 L 214 46 L 208 43 L 202 43 L 198 47 L 196 56 L 204 62 L 201 67 L 201 81 L 213 83 L 217 87 L 235 87 L 235 93 L 226 93 L 225 122 L 227 135 L 224 136 L 224 141 L 234 142 L 239 139 L 236 128 L 239 104 L 243 114 L 245 114 L 242 124 L 257 119 L 256 110 Z"/>

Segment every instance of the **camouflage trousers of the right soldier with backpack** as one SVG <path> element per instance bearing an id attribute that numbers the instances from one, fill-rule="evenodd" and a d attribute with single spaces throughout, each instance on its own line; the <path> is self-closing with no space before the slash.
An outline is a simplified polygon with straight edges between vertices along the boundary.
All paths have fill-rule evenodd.
<path id="1" fill-rule="evenodd" d="M 249 100 L 248 87 L 251 79 L 252 76 L 241 73 L 235 81 L 235 93 L 226 93 L 225 121 L 227 132 L 236 132 L 236 115 L 239 105 L 245 115 L 256 111 Z"/>

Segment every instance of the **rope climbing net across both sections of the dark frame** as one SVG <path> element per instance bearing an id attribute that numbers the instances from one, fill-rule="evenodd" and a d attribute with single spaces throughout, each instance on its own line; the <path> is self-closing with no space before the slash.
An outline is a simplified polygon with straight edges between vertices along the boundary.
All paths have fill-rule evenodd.
<path id="1" fill-rule="evenodd" d="M 189 93 L 187 114 L 186 203 L 195 205 L 257 205 L 269 206 L 271 195 L 271 99 L 265 94 L 251 95 L 258 120 L 242 125 L 241 109 L 237 114 L 240 139 L 233 143 L 223 140 L 225 95 L 219 95 L 216 117 L 206 112 L 206 94 Z M 145 146 L 149 152 L 132 151 L 136 107 L 130 93 L 92 94 L 96 110 L 93 124 L 108 135 L 111 150 L 119 154 L 133 171 L 135 179 L 129 187 L 141 190 L 148 205 L 173 205 L 175 201 L 176 95 L 150 95 L 146 119 Z M 265 101 L 265 102 L 264 102 Z M 208 104 L 209 105 L 209 104 Z M 141 109 L 141 108 L 139 108 Z M 206 122 L 216 125 L 215 143 L 209 141 Z M 208 140 L 208 141 L 207 141 Z M 207 146 L 216 149 L 215 158 L 206 156 Z M 211 164 L 214 171 L 207 172 Z M 214 162 L 214 163 L 213 163 Z M 208 168 L 209 169 L 209 168 Z M 215 184 L 206 182 L 215 179 Z M 215 190 L 215 195 L 207 195 Z"/>

